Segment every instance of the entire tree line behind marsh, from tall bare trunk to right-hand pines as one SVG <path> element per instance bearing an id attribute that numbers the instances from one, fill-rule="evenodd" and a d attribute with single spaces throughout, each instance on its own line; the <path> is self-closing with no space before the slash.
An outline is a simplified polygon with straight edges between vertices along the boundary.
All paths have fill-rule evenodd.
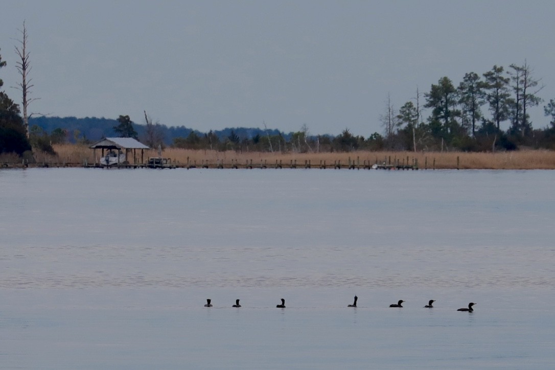
<path id="1" fill-rule="evenodd" d="M 202 133 L 185 126 L 168 127 L 153 121 L 144 111 L 144 124 L 134 123 L 129 115 L 117 120 L 105 118 L 47 117 L 27 114 L 31 79 L 27 30 L 23 23 L 16 68 L 22 75 L 23 116 L 19 105 L 0 90 L 0 153 L 22 155 L 31 149 L 54 154 L 58 143 L 91 143 L 107 136 L 139 139 L 151 148 L 236 150 L 268 152 L 326 152 L 354 150 L 410 151 L 496 151 L 518 148 L 555 149 L 555 100 L 543 106 L 549 125 L 534 129 L 531 109 L 544 100 L 543 85 L 526 62 L 508 69 L 494 65 L 477 74 L 466 73 L 457 84 L 442 77 L 430 90 L 404 103 L 399 109 L 388 95 L 384 113 L 379 116 L 382 133 L 367 137 L 353 135 L 349 128 L 339 135 L 314 135 L 306 124 L 298 131 L 282 133 L 276 129 L 226 128 Z M 0 55 L 0 69 L 6 66 Z M 0 79 L 0 88 L 3 82 Z M 424 112 L 429 114 L 425 117 Z M 508 122 L 503 130 L 502 124 Z"/>

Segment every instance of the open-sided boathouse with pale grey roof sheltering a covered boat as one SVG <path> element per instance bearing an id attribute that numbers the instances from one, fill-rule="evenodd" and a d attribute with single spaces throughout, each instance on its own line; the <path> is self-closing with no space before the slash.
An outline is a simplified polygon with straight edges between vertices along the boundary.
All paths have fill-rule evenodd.
<path id="1" fill-rule="evenodd" d="M 147 145 L 133 138 L 105 138 L 89 146 L 89 148 L 93 149 L 95 164 L 97 159 L 100 159 L 100 163 L 105 166 L 137 165 L 137 149 L 140 149 L 140 164 L 143 164 L 144 150 L 150 149 Z M 97 149 L 102 149 L 100 158 L 97 158 Z M 131 158 L 132 153 L 133 158 Z"/>

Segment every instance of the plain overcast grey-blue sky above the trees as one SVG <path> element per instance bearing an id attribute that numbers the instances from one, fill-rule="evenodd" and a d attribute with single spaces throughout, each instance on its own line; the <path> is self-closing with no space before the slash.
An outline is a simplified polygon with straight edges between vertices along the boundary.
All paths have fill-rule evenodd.
<path id="1" fill-rule="evenodd" d="M 545 100 L 529 113 L 545 128 L 553 14 L 539 0 L 0 0 L 0 79 L 20 103 L 14 47 L 26 21 L 33 114 L 144 124 L 146 110 L 203 132 L 306 125 L 368 137 L 384 132 L 388 96 L 398 109 L 418 89 L 423 104 L 444 76 L 458 85 L 526 60 Z"/>

